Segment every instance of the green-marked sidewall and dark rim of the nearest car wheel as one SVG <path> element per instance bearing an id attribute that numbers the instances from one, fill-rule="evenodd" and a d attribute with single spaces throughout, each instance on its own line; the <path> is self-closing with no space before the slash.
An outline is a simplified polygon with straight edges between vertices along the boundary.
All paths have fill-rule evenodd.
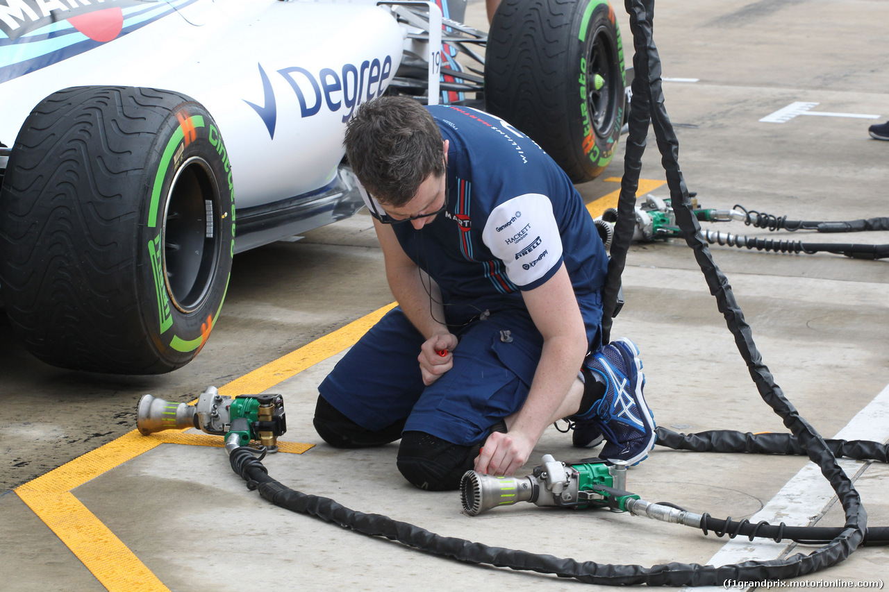
<path id="1" fill-rule="evenodd" d="M 220 130 L 199 103 L 181 97 L 171 104 L 157 140 L 147 167 L 153 182 L 143 272 L 151 292 L 144 303 L 156 313 L 146 320 L 162 355 L 187 361 L 204 347 L 228 287 L 234 180 Z"/>

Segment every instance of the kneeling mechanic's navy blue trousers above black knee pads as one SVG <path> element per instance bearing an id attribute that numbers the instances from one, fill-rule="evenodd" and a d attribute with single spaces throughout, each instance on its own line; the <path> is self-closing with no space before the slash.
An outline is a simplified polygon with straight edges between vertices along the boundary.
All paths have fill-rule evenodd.
<path id="1" fill-rule="evenodd" d="M 517 309 L 453 331 L 460 339 L 453 368 L 427 387 L 417 359 L 425 338 L 401 308 L 393 308 L 343 356 L 318 391 L 362 428 L 377 431 L 406 418 L 404 431 L 477 444 L 525 403 L 543 338 L 527 312 Z"/>

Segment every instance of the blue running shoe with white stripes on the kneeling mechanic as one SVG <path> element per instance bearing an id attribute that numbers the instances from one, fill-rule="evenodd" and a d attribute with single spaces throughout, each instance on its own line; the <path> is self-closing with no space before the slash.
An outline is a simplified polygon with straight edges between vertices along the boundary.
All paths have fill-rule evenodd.
<path id="1" fill-rule="evenodd" d="M 585 432 L 581 438 L 575 428 L 575 445 L 578 440 L 595 436 L 598 430 L 607 441 L 600 458 L 609 462 L 620 460 L 629 466 L 642 462 L 648 458 L 657 436 L 653 414 L 642 394 L 645 375 L 638 348 L 628 339 L 614 340 L 587 357 L 584 364 L 605 381 L 605 396 L 587 412 L 572 417 Z"/>

